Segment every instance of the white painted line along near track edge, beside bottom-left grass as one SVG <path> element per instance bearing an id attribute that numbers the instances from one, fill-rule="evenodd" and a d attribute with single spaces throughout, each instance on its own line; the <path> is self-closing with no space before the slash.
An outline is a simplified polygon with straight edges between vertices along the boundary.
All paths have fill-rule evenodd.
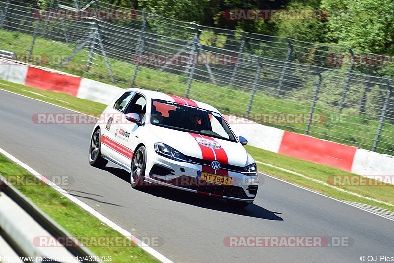
<path id="1" fill-rule="evenodd" d="M 14 157 L 13 155 L 11 155 L 10 153 L 8 153 L 7 151 L 5 151 L 4 149 L 2 149 L 0 147 L 0 153 L 5 155 L 7 158 L 11 159 L 13 162 L 15 162 L 16 164 L 20 165 L 22 168 L 26 169 L 27 171 L 29 171 L 30 173 L 32 173 L 35 177 L 37 177 L 38 179 L 42 180 L 42 175 L 37 172 L 36 170 L 34 170 L 33 168 L 31 168 L 29 165 L 23 163 L 22 161 L 20 161 L 19 159 L 17 159 L 16 157 Z M 92 207 L 90 207 L 89 205 L 85 204 L 84 202 L 82 202 L 81 200 L 77 199 L 76 197 L 72 196 L 71 194 L 69 194 L 66 190 L 64 190 L 63 188 L 61 188 L 60 186 L 58 186 L 57 184 L 47 180 L 45 182 L 46 184 L 50 185 L 53 189 L 55 189 L 56 191 L 58 191 L 60 194 L 62 194 L 63 196 L 67 197 L 68 199 L 70 199 L 72 202 L 74 202 L 75 204 L 77 204 L 78 206 L 80 206 L 82 209 L 84 209 L 85 211 L 89 212 L 91 215 L 93 215 L 94 217 L 98 218 L 101 222 L 107 224 L 109 227 L 111 227 L 112 229 L 118 231 L 119 233 L 121 233 L 122 235 L 124 235 L 127 238 L 130 238 L 134 243 L 136 243 L 136 245 L 138 245 L 140 248 L 142 248 L 143 250 L 145 250 L 147 253 L 149 253 L 150 255 L 152 255 L 153 257 L 155 257 L 156 259 L 160 260 L 163 263 L 173 263 L 171 260 L 169 260 L 168 258 L 166 258 L 164 255 L 162 255 L 161 253 L 159 253 L 158 251 L 156 251 L 155 249 L 153 249 L 152 247 L 148 246 L 147 244 L 145 244 L 144 242 L 142 242 L 141 240 L 139 240 L 138 238 L 136 238 L 134 235 L 132 235 L 130 232 L 128 232 L 127 230 L 123 229 L 122 227 L 120 227 L 119 225 L 117 225 L 115 222 L 111 221 L 110 219 L 108 219 L 107 217 L 105 217 L 104 215 L 100 214 L 99 212 L 97 212 L 96 210 L 94 210 Z"/>

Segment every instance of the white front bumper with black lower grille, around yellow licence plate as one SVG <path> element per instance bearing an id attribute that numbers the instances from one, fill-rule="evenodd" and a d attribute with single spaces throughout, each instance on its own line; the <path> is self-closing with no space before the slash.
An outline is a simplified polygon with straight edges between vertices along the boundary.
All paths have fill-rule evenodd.
<path id="1" fill-rule="evenodd" d="M 202 165 L 179 162 L 158 155 L 153 148 L 148 150 L 145 179 L 153 184 L 168 186 L 184 191 L 236 201 L 253 202 L 259 185 L 258 176 L 247 176 L 228 171 L 231 185 L 220 185 L 197 179 Z"/>

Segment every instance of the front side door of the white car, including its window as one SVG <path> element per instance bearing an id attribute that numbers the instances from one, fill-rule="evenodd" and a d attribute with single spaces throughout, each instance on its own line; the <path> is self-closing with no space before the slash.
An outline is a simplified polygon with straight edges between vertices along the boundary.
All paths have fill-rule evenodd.
<path id="1" fill-rule="evenodd" d="M 120 114 L 119 122 L 114 124 L 114 141 L 121 146 L 118 149 L 119 151 L 116 159 L 120 164 L 128 168 L 131 167 L 133 150 L 136 146 L 135 141 L 138 138 L 138 131 L 144 128 L 145 111 L 146 99 L 142 94 L 136 93 L 125 110 L 123 110 L 122 114 Z M 138 114 L 142 125 L 128 121 L 126 119 L 127 113 Z"/>

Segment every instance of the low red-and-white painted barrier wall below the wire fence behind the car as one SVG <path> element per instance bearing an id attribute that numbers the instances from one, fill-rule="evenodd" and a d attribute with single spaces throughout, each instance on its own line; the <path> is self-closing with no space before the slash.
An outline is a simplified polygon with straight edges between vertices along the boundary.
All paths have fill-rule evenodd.
<path id="1" fill-rule="evenodd" d="M 91 79 L 31 65 L 0 65 L 0 78 L 44 90 L 64 92 L 108 104 L 122 89 Z M 393 175 L 394 157 L 262 124 L 230 122 L 236 134 L 257 148 L 351 171 L 355 174 Z"/>

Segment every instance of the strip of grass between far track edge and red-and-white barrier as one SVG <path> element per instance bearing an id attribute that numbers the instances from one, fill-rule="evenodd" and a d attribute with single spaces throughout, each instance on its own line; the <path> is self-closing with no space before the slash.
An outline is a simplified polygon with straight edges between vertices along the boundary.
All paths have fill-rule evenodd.
<path id="1" fill-rule="evenodd" d="M 20 84 L 11 83 L 8 81 L 0 80 L 0 88 L 22 95 L 26 95 L 35 99 L 41 99 L 51 102 L 56 105 L 64 106 L 66 108 L 87 112 L 87 113 L 101 113 L 106 107 L 104 104 L 93 102 L 85 99 L 78 99 L 67 94 L 57 93 L 52 91 L 39 90 L 35 88 L 26 87 Z M 330 166 L 316 164 L 309 161 L 303 161 L 294 157 L 276 154 L 273 152 L 265 151 L 253 146 L 246 146 L 249 153 L 257 161 L 267 164 L 288 169 L 297 173 L 301 173 L 312 179 L 328 182 L 330 176 L 352 176 L 355 174 L 333 168 Z M 326 186 L 324 184 L 302 178 L 300 176 L 282 171 L 280 169 L 258 164 L 259 171 L 267 173 L 274 177 L 295 183 L 297 185 L 312 189 L 319 193 L 325 194 L 344 201 L 359 202 L 377 207 L 385 208 L 394 211 L 393 206 L 385 205 L 382 203 L 367 200 L 362 197 L 357 197 L 351 194 L 343 193 L 335 188 Z M 394 205 L 394 186 L 338 186 L 341 189 L 362 195 L 364 197 L 373 198 L 379 201 L 387 202 Z"/>

